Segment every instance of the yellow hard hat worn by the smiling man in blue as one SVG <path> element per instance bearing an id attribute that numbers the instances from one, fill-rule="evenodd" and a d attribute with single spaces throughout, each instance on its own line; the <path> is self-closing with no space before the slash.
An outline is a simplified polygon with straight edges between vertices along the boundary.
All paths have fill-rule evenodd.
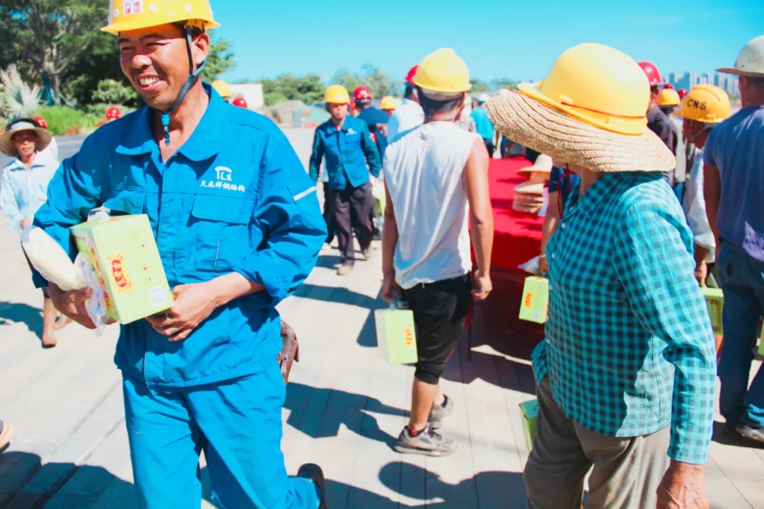
<path id="1" fill-rule="evenodd" d="M 220 26 L 212 18 L 209 0 L 111 0 L 108 25 L 101 30 L 118 35 L 124 31 L 181 21 L 202 30 Z"/>

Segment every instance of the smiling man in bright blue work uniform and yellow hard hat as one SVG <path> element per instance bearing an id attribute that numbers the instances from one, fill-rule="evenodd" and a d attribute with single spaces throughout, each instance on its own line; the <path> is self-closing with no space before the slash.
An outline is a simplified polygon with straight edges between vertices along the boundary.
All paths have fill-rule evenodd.
<path id="1" fill-rule="evenodd" d="M 219 26 L 208 0 L 111 4 L 104 30 L 147 107 L 63 162 L 35 224 L 72 255 L 68 227 L 102 205 L 147 214 L 157 237 L 173 307 L 123 325 L 115 355 L 138 507 L 199 507 L 202 450 L 223 507 L 325 507 L 318 466 L 286 475 L 274 309 L 326 238 L 315 187 L 272 122 L 202 85 L 205 31 Z M 89 291 L 48 286 L 60 311 L 93 327 Z"/>

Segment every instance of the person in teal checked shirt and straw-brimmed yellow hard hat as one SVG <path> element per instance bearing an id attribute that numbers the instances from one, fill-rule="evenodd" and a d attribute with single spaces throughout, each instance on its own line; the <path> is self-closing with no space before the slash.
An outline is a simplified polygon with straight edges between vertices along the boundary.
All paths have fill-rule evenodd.
<path id="1" fill-rule="evenodd" d="M 634 60 L 588 43 L 486 105 L 501 133 L 581 177 L 546 250 L 529 507 L 580 507 L 591 466 L 588 507 L 708 507 L 714 333 L 649 101 Z"/>

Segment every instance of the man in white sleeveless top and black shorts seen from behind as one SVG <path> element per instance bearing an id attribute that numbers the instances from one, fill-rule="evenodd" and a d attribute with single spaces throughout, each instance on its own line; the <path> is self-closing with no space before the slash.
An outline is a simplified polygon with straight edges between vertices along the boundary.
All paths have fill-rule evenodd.
<path id="1" fill-rule="evenodd" d="M 425 123 L 391 143 L 384 160 L 383 297 L 408 302 L 419 356 L 411 417 L 395 449 L 446 456 L 456 443 L 435 430 L 454 403 L 439 381 L 471 299 L 486 298 L 492 288 L 494 219 L 483 140 L 455 124 L 470 89 L 467 66 L 454 50 L 437 50 L 422 60 L 413 82 Z M 474 283 L 468 220 L 478 262 Z"/>

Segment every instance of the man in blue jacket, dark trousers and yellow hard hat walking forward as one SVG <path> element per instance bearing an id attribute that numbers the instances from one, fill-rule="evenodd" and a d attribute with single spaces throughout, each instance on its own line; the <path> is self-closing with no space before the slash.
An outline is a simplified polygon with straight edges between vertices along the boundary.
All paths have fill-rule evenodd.
<path id="1" fill-rule="evenodd" d="M 374 182 L 371 179 L 376 181 L 382 165 L 366 122 L 348 115 L 348 90 L 342 85 L 331 85 L 326 89 L 324 102 L 332 118 L 316 128 L 309 173 L 315 184 L 325 156 L 325 170 L 329 173 L 329 196 L 325 199 L 331 205 L 340 251 L 337 273 L 347 275 L 355 263 L 354 229 L 358 232 L 364 258 L 371 257 L 374 238 L 371 225 Z"/>

